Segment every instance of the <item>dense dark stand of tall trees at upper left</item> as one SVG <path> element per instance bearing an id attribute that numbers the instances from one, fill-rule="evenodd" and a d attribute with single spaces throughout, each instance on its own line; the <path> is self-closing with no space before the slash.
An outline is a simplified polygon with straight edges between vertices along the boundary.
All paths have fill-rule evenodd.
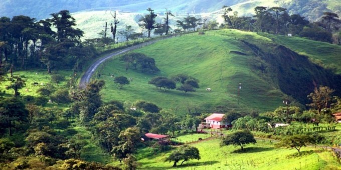
<path id="1" fill-rule="evenodd" d="M 96 50 L 81 43 L 83 31 L 75 25 L 68 10 L 40 21 L 24 15 L 1 17 L 0 64 L 12 71 L 41 67 L 48 73 L 56 68 L 82 69 Z"/>

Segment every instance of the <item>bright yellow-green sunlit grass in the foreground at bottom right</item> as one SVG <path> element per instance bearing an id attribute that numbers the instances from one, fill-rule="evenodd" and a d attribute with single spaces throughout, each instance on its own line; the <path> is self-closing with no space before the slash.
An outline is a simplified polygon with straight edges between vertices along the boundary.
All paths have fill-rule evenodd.
<path id="1" fill-rule="evenodd" d="M 275 148 L 268 140 L 248 144 L 245 152 L 236 152 L 239 147 L 220 146 L 220 138 L 203 141 L 193 146 L 200 151 L 200 160 L 186 161 L 180 169 L 340 169 L 330 152 L 312 147 L 302 151 L 317 150 L 300 157 L 288 157 L 295 149 Z M 173 162 L 164 162 L 171 151 L 153 154 L 150 148 L 138 151 L 137 158 L 142 169 L 171 169 Z"/>

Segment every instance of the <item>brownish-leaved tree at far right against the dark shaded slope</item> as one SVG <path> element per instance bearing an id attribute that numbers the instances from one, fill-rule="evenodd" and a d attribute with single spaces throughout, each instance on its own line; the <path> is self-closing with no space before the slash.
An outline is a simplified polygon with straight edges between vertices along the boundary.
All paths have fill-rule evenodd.
<path id="1" fill-rule="evenodd" d="M 330 107 L 332 101 L 331 94 L 334 91 L 334 89 L 331 89 L 327 86 L 319 86 L 318 88 L 315 87 L 314 91 L 307 96 L 309 99 L 312 100 L 312 103 L 307 105 L 314 109 L 317 109 L 318 114 L 320 114 L 323 108 Z"/>

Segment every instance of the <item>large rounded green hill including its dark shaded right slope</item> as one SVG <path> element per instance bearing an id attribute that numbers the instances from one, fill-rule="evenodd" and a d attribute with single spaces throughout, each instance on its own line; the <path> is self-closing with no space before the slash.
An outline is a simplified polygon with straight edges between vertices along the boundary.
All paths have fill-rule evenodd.
<path id="1" fill-rule="evenodd" d="M 282 104 L 285 98 L 282 91 L 304 103 L 314 83 L 339 88 L 332 85 L 339 81 L 334 78 L 337 75 L 255 32 L 225 29 L 207 31 L 204 35 L 192 33 L 162 40 L 134 52 L 153 57 L 161 71 L 155 74 L 132 69 L 125 71 L 125 63 L 118 58 L 108 61 L 99 70 L 100 78 L 106 81 L 102 90 L 104 100 L 133 102 L 144 99 L 179 112 L 231 108 L 265 111 Z M 285 57 L 287 53 L 291 58 Z M 197 92 L 164 92 L 148 84 L 153 76 L 170 77 L 179 73 L 199 79 Z M 133 81 L 118 89 L 111 74 L 132 77 Z M 240 105 L 239 83 L 242 83 Z M 206 91 L 207 87 L 212 91 Z"/>

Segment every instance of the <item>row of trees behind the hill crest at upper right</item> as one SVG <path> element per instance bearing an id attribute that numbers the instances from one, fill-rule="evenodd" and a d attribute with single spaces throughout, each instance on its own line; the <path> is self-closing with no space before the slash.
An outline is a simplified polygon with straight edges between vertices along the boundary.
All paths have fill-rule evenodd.
<path id="1" fill-rule="evenodd" d="M 324 12 L 318 21 L 311 22 L 299 14 L 290 15 L 283 7 L 257 6 L 253 16 L 239 16 L 238 11 L 233 11 L 229 6 L 223 6 L 223 9 L 224 23 L 220 25 L 216 20 L 208 21 L 208 18 L 187 16 L 183 20 L 177 20 L 177 26 L 184 31 L 195 30 L 196 27 L 201 26 L 203 29 L 219 27 L 272 34 L 291 34 L 292 36 L 340 44 L 341 34 L 338 29 L 341 27 L 341 21 L 333 12 Z M 232 15 L 231 12 L 233 12 Z M 180 30 L 175 31 L 179 32 Z"/>

